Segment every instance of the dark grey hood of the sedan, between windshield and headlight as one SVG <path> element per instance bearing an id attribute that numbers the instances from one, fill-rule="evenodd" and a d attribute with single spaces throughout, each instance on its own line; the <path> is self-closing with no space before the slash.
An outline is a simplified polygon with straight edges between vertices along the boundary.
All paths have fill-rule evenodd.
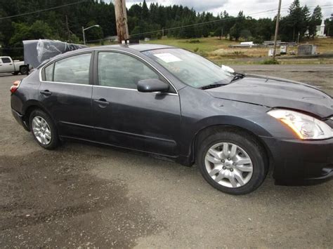
<path id="1" fill-rule="evenodd" d="M 266 107 L 299 109 L 325 118 L 333 114 L 332 97 L 297 81 L 247 75 L 226 86 L 208 89 L 213 97 Z"/>

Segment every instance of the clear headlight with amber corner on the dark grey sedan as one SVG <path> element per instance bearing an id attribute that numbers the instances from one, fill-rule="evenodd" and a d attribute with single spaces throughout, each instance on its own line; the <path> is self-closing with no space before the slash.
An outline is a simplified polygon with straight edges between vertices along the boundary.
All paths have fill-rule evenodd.
<path id="1" fill-rule="evenodd" d="M 327 139 L 333 137 L 333 130 L 326 123 L 313 116 L 301 114 L 287 109 L 273 109 L 268 112 L 291 128 L 302 140 Z"/>

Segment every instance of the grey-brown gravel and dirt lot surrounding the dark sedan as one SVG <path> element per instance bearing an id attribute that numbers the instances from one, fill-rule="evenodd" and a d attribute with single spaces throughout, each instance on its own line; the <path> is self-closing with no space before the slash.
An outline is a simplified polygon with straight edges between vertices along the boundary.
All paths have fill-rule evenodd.
<path id="1" fill-rule="evenodd" d="M 237 67 L 314 83 L 333 95 L 332 68 Z M 333 182 L 247 196 L 210 187 L 194 166 L 67 142 L 41 149 L 11 116 L 0 76 L 0 248 L 329 248 Z"/>

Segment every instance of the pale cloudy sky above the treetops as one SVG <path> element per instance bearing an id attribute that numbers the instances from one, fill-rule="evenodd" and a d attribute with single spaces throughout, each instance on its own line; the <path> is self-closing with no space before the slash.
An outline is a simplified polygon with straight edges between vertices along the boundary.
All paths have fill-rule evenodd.
<path id="1" fill-rule="evenodd" d="M 282 15 L 287 15 L 287 9 L 293 0 L 282 0 Z M 129 8 L 133 4 L 139 4 L 143 0 L 126 0 L 126 6 Z M 209 11 L 217 15 L 227 11 L 230 15 L 237 15 L 240 10 L 244 15 L 251 15 L 253 18 L 273 18 L 278 11 L 278 0 L 146 0 L 148 6 L 150 3 L 158 3 L 164 6 L 181 4 L 194 8 L 197 12 Z M 324 18 L 329 18 L 333 13 L 333 0 L 300 0 L 301 6 L 309 6 L 311 12 L 315 6 L 322 6 Z M 329 6 L 330 5 L 330 6 Z M 269 11 L 258 13 L 261 11 Z"/>

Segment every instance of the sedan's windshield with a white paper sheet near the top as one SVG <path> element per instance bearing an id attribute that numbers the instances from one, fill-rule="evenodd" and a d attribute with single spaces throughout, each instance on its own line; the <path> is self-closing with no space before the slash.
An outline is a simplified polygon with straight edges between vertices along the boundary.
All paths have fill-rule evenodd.
<path id="1" fill-rule="evenodd" d="M 183 83 L 195 88 L 215 84 L 224 85 L 233 79 L 233 75 L 224 72 L 213 62 L 181 48 L 162 48 L 143 53 L 158 62 Z"/>

